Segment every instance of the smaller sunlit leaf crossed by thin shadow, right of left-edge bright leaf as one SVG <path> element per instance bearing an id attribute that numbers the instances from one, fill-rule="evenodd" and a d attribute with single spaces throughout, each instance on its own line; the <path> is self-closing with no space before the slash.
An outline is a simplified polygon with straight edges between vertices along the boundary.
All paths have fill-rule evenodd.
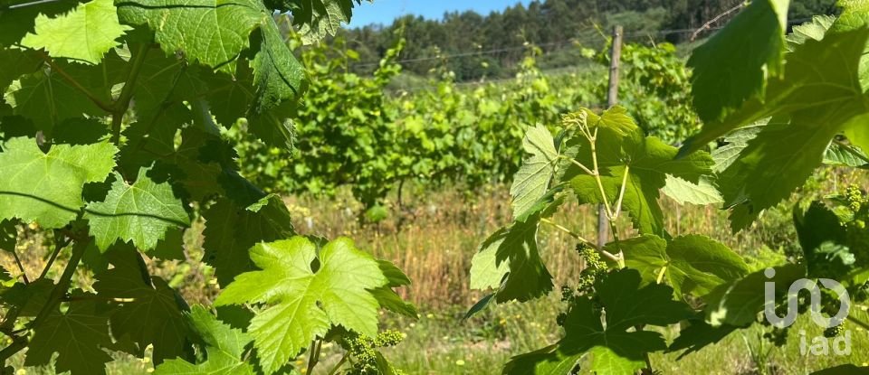
<path id="1" fill-rule="evenodd" d="M 106 200 L 88 203 L 84 218 L 90 221 L 91 236 L 100 250 L 107 250 L 120 239 L 148 251 L 166 237 L 167 230 L 190 225 L 172 186 L 154 182 L 148 171 L 150 168 L 139 169 L 136 182 L 131 184 L 115 173 Z"/>

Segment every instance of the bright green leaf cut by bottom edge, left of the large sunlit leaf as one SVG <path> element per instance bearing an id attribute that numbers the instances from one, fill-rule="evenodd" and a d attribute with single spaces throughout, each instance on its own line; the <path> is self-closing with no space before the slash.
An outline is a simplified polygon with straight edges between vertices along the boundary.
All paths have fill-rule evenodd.
<path id="1" fill-rule="evenodd" d="M 186 317 L 205 345 L 207 360 L 199 364 L 168 360 L 154 370 L 156 375 L 253 375 L 253 366 L 242 360 L 244 348 L 253 342 L 250 335 L 217 320 L 201 305 L 193 306 Z"/>

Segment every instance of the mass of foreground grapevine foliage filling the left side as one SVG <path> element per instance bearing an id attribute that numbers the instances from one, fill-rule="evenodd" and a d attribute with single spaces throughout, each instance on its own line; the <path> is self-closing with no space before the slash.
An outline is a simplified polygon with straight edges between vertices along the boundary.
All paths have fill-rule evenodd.
<path id="1" fill-rule="evenodd" d="M 347 239 L 284 249 L 291 257 L 275 274 L 255 272 L 273 270 L 258 252 L 265 242 L 295 235 L 290 213 L 239 175 L 218 126 L 244 122 L 270 145 L 295 142 L 289 117 L 308 76 L 272 6 L 291 9 L 312 41 L 336 33 L 357 2 L 8 6 L 19 3 L 0 5 L 0 248 L 17 259 L 26 225 L 51 231 L 56 249 L 34 279 L 0 276 L 8 283 L 0 332 L 11 339 L 0 351 L 4 366 L 26 349 L 27 366 L 99 375 L 118 358 L 111 352 L 143 358 L 151 348 L 158 374 L 269 375 L 294 370 L 303 348 L 337 341 L 327 333 L 339 325 L 377 337 L 380 301 L 415 315 L 393 289 L 407 277 Z M 149 265 L 185 259 L 185 230 L 195 221 L 205 221 L 205 262 L 224 287 L 219 301 L 245 303 L 222 309 L 222 318 L 236 317 L 232 328 L 150 275 Z M 295 284 L 284 277 L 291 269 Z M 250 295 L 252 285 L 282 290 L 276 295 L 289 305 L 300 305 L 293 298 L 307 289 L 307 309 L 263 309 L 275 301 Z M 258 327 L 275 318 L 306 335 L 272 326 L 263 340 Z M 309 354 L 313 368 L 318 358 Z M 382 357 L 377 364 L 391 368 Z"/>

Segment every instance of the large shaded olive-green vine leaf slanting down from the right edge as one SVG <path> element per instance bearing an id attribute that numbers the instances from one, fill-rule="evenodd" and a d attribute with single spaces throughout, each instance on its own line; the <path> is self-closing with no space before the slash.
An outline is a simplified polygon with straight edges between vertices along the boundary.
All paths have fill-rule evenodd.
<path id="1" fill-rule="evenodd" d="M 734 126 L 771 115 L 789 117 L 790 121 L 764 127 L 739 159 L 721 173 L 719 183 L 725 204 L 733 208 L 734 231 L 746 228 L 760 211 L 787 198 L 804 183 L 843 127 L 865 122 L 866 116 L 860 114 L 867 97 L 857 69 L 867 36 L 869 31 L 860 29 L 827 33 L 820 42 L 807 40 L 788 53 L 784 79 L 772 81 L 767 90 L 767 102 L 788 105 L 767 108 L 749 103 L 735 115 L 740 119 L 732 123 Z"/>

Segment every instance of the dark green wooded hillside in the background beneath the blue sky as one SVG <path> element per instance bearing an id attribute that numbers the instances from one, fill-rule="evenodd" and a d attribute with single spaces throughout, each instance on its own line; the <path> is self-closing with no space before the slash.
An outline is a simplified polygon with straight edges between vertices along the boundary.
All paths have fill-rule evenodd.
<path id="1" fill-rule="evenodd" d="M 445 13 L 441 19 L 406 15 L 391 24 L 371 24 L 345 31 L 349 47 L 359 52 L 352 68 L 370 72 L 389 48 L 396 31 L 407 41 L 402 59 L 406 71 L 425 75 L 446 65 L 457 80 L 504 77 L 521 61 L 525 43 L 536 44 L 547 54 L 546 68 L 571 66 L 578 60 L 576 45 L 599 48 L 602 32 L 620 24 L 629 41 L 687 42 L 695 29 L 721 27 L 736 14 L 742 0 L 535 0 L 517 3 L 501 12 Z M 372 6 L 363 3 L 361 6 Z M 812 14 L 836 13 L 835 0 L 795 0 L 788 19 L 805 21 Z M 704 34 L 705 36 L 705 34 Z"/>

